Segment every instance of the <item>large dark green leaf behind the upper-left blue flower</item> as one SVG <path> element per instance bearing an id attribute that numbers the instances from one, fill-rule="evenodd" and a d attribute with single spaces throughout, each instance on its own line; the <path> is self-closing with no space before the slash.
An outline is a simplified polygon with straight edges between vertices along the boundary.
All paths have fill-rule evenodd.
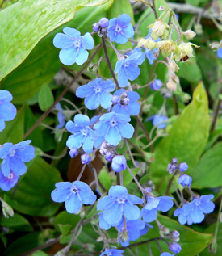
<path id="1" fill-rule="evenodd" d="M 53 37 L 61 32 L 63 27 L 74 27 L 82 34 L 91 31 L 92 24 L 106 16 L 112 2 L 113 0 L 110 0 L 103 6 L 77 10 L 74 19 L 50 32 L 36 45 L 27 59 L 2 81 L 2 86 L 0 83 L 2 89 L 10 90 L 13 94 L 13 103 L 24 103 L 31 99 L 42 84 L 49 83 L 61 68 L 59 50 L 52 44 Z"/>

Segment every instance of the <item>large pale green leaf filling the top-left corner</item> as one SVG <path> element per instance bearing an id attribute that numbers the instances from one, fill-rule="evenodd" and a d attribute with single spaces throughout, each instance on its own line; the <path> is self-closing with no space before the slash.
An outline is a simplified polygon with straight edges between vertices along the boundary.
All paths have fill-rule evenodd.
<path id="1" fill-rule="evenodd" d="M 21 0 L 0 13 L 0 80 L 21 64 L 50 31 L 73 19 L 82 6 L 107 0 Z"/>

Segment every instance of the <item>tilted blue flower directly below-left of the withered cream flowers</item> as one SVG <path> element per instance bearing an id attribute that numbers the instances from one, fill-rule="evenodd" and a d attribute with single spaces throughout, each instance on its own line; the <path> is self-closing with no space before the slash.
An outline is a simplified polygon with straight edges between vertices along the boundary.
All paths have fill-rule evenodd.
<path id="1" fill-rule="evenodd" d="M 128 79 L 133 81 L 138 78 L 140 75 L 138 65 L 141 65 L 144 61 L 145 53 L 136 52 L 130 55 L 130 57 L 116 62 L 114 72 L 118 73 L 118 82 L 120 87 L 126 87 L 128 85 Z"/>

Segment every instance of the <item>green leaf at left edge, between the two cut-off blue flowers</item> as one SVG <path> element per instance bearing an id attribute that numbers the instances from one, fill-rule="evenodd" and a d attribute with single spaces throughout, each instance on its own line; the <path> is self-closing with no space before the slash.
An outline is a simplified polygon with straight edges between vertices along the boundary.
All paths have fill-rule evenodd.
<path id="1" fill-rule="evenodd" d="M 24 135 L 24 108 L 17 111 L 15 120 L 6 122 L 6 128 L 0 132 L 0 144 L 6 142 L 19 143 Z"/>

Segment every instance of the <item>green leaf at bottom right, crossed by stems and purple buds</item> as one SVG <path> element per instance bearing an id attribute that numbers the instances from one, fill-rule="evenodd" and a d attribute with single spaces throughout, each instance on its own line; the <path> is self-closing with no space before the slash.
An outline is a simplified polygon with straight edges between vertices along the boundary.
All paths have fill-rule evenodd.
<path id="1" fill-rule="evenodd" d="M 170 231 L 178 230 L 178 232 L 180 233 L 179 244 L 182 247 L 182 250 L 178 254 L 179 256 L 187 256 L 187 255 L 195 256 L 199 254 L 199 252 L 201 252 L 212 241 L 212 234 L 196 232 L 191 228 L 178 224 L 177 221 L 171 220 L 167 216 L 158 216 L 158 220 L 161 222 L 162 225 L 165 225 L 165 227 L 169 228 Z M 160 237 L 157 224 L 153 222 L 152 225 L 153 225 L 153 229 L 149 229 L 147 235 L 140 237 L 140 239 L 136 240 L 136 242 L 146 241 L 154 237 Z M 159 241 L 159 242 L 161 245 L 161 249 L 163 251 L 165 252 L 169 251 L 168 246 L 165 244 L 165 242 L 163 241 Z M 160 255 L 160 251 L 156 241 L 152 241 L 149 245 L 151 247 L 153 255 Z M 136 251 L 135 247 L 131 247 L 131 249 L 134 252 Z M 126 255 L 132 255 L 132 254 L 126 251 Z M 138 255 L 140 256 L 149 255 L 149 248 L 146 243 L 141 246 L 138 246 Z"/>

